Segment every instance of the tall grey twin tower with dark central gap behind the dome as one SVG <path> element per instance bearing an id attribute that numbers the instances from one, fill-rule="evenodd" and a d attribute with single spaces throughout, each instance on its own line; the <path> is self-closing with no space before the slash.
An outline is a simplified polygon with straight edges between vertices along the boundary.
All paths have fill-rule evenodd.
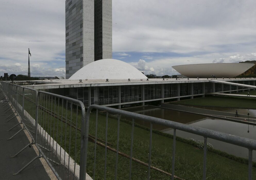
<path id="1" fill-rule="evenodd" d="M 66 79 L 112 58 L 112 0 L 66 0 Z"/>

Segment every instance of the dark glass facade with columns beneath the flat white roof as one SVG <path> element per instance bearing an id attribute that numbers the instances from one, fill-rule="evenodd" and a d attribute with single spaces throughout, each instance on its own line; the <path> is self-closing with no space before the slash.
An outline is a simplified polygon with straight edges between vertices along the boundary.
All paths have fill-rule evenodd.
<path id="1" fill-rule="evenodd" d="M 239 82 L 235 82 L 239 83 Z M 254 82 L 252 82 L 254 83 Z M 252 84 L 248 83 L 248 84 Z M 223 91 L 235 91 L 236 85 L 221 84 L 204 82 L 204 93 Z M 143 89 L 144 87 L 144 89 Z M 162 89 L 163 87 L 163 89 Z M 179 88 L 180 87 L 180 88 Z M 202 83 L 170 83 L 170 84 L 146 84 L 146 85 L 122 85 L 122 86 L 96 86 L 96 87 L 79 87 L 79 88 L 64 88 L 64 94 L 66 96 L 77 98 L 82 101 L 86 106 L 89 102 L 91 104 L 109 105 L 118 103 L 129 103 L 155 100 L 172 97 L 181 97 L 188 95 L 197 95 L 203 93 Z M 231 87 L 231 89 L 230 89 Z M 239 86 L 238 86 L 239 87 Z M 118 100 L 118 88 L 120 88 L 120 100 Z M 179 89 L 178 89 L 179 88 Z M 193 91 L 192 89 L 193 88 Z M 90 92 L 89 92 L 90 89 Z M 242 90 L 242 87 L 239 87 Z M 178 96 L 178 91 L 180 95 Z M 162 92 L 164 93 L 162 95 Z M 89 94 L 91 95 L 89 97 Z M 89 101 L 90 98 L 90 101 Z"/>

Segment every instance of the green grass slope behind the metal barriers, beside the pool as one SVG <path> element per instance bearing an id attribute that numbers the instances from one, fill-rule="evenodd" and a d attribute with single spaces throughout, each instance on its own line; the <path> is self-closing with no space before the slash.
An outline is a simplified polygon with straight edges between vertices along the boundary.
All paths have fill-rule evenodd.
<path id="1" fill-rule="evenodd" d="M 41 105 L 58 114 L 67 116 L 72 122 L 76 122 L 81 127 L 81 115 L 76 109 L 71 110 L 64 106 L 52 105 L 52 100 L 44 100 Z M 65 104 L 64 104 L 65 105 Z M 26 103 L 25 106 L 29 106 Z M 25 108 L 26 109 L 26 108 Z M 34 115 L 33 115 L 34 116 Z M 39 110 L 39 124 L 79 163 L 80 159 L 80 132 L 70 128 L 53 116 Z M 89 134 L 95 136 L 96 113 L 90 114 Z M 105 140 L 106 116 L 98 115 L 97 137 Z M 119 151 L 130 155 L 132 126 L 127 122 L 120 122 Z M 108 142 L 112 148 L 117 146 L 117 119 L 114 116 L 108 118 Z M 54 134 L 54 135 L 53 135 Z M 58 136 L 57 136 L 58 134 Z M 64 142 L 66 139 L 66 143 Z M 133 157 L 148 163 L 150 133 L 147 128 L 134 127 Z M 177 138 L 179 139 L 179 138 Z M 71 143 L 69 143 L 71 140 Z M 170 135 L 154 131 L 152 134 L 151 165 L 166 172 L 171 172 L 173 139 Z M 70 147 L 70 148 L 69 148 Z M 76 153 L 75 153 L 76 148 Z M 87 173 L 93 176 L 94 143 L 88 142 Z M 107 174 L 106 179 L 114 179 L 116 153 L 107 150 Z M 105 148 L 96 147 L 96 174 L 95 179 L 104 178 Z M 129 178 L 129 159 L 118 156 L 117 179 Z M 147 179 L 148 167 L 132 161 L 132 179 Z M 203 174 L 203 150 L 185 143 L 176 141 L 175 175 L 184 179 L 202 179 Z M 151 179 L 170 179 L 170 176 L 151 169 Z M 248 165 L 239 163 L 220 156 L 213 152 L 207 152 L 207 177 L 208 179 L 247 179 Z M 256 178 L 256 168 L 253 167 L 253 178 Z"/>

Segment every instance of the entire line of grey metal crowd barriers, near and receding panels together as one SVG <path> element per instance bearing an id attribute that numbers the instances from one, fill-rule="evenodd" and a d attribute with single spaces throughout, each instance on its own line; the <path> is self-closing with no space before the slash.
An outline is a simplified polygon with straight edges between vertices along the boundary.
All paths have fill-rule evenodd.
<path id="1" fill-rule="evenodd" d="M 120 135 L 120 115 L 132 118 L 132 133 L 131 133 L 131 146 L 129 158 L 129 179 L 131 179 L 132 160 L 133 160 L 133 132 L 134 132 L 134 120 L 143 120 L 150 123 L 150 138 L 149 138 L 149 150 L 148 163 L 144 165 L 148 166 L 147 178 L 150 179 L 151 164 L 151 150 L 152 150 L 152 124 L 159 124 L 165 127 L 173 128 L 173 151 L 172 151 L 172 166 L 169 175 L 171 178 L 178 178 L 174 175 L 175 169 L 175 145 L 176 145 L 176 130 L 181 130 L 193 134 L 200 135 L 204 138 L 204 155 L 203 155 L 203 179 L 206 179 L 206 152 L 207 152 L 207 138 L 231 143 L 233 145 L 248 148 L 249 150 L 249 166 L 248 166 L 248 178 L 252 179 L 252 150 L 256 150 L 256 141 L 252 139 L 232 136 L 226 133 L 212 131 L 199 127 L 192 127 L 190 125 L 168 121 L 164 119 L 154 118 L 146 115 L 136 114 L 128 111 L 118 110 L 110 107 L 103 107 L 100 105 L 91 105 L 87 111 L 85 111 L 84 105 L 81 101 L 47 93 L 43 91 L 36 91 L 30 88 L 25 88 L 18 85 L 13 85 L 6 82 L 1 82 L 0 95 L 2 99 L 8 100 L 3 106 L 7 106 L 5 111 L 9 111 L 10 108 L 15 109 L 14 115 L 18 115 L 21 118 L 23 124 L 22 129 L 26 129 L 32 142 L 25 146 L 35 144 L 39 150 L 39 156 L 32 159 L 27 165 L 25 165 L 19 172 L 27 167 L 33 160 L 43 157 L 54 174 L 58 179 L 86 179 L 90 178 L 86 174 L 87 169 L 87 150 L 88 139 L 94 142 L 93 153 L 93 179 L 96 174 L 96 145 L 99 144 L 97 137 L 98 127 L 98 111 L 106 111 L 106 127 L 105 127 L 105 163 L 104 163 L 104 179 L 107 178 L 107 149 L 108 149 L 108 113 L 117 114 L 117 137 L 116 137 L 116 149 L 112 148 L 112 151 L 116 153 L 115 156 L 115 178 L 117 178 L 118 156 L 120 151 L 118 150 L 119 135 Z M 11 102 L 11 106 L 8 106 Z M 9 109 L 9 110 L 8 110 Z M 96 109 L 96 121 L 95 137 L 89 135 L 89 122 L 90 112 Z M 15 115 L 15 116 L 16 116 Z M 11 119 L 9 119 L 11 120 Z M 10 129 L 11 130 L 11 129 Z M 20 130 L 21 131 L 21 130 Z M 17 134 L 17 133 L 16 133 Z M 11 138 L 10 138 L 11 139 Z M 100 143 L 104 146 L 103 143 Z M 17 156 L 22 150 L 20 150 Z M 79 154 L 80 153 L 80 154 Z M 80 159 L 78 159 L 80 155 Z M 103 157 L 98 157 L 102 159 Z M 76 164 L 80 163 L 80 166 Z M 143 162 L 141 162 L 143 164 Z M 103 169 L 102 169 L 103 170 Z M 78 175 L 79 173 L 79 175 Z"/>

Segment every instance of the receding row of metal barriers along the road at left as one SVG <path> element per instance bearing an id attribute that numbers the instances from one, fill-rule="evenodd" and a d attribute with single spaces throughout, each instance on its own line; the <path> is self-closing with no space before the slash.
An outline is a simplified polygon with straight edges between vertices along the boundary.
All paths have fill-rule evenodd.
<path id="1" fill-rule="evenodd" d="M 21 173 L 35 159 L 43 157 L 58 179 L 86 177 L 90 179 L 83 170 L 86 157 L 80 154 L 84 152 L 86 144 L 84 139 L 86 111 L 81 101 L 6 82 L 1 82 L 0 95 L 7 101 L 3 104 L 6 107 L 5 112 L 15 110 L 11 114 L 14 116 L 8 116 L 6 122 L 19 116 L 21 122 L 14 127 L 23 125 L 23 128 L 8 140 L 22 130 L 27 130 L 32 139 L 31 143 L 11 158 L 18 156 L 31 145 L 35 145 L 39 150 L 37 157 L 13 175 Z M 11 131 L 14 127 L 7 131 Z"/>

